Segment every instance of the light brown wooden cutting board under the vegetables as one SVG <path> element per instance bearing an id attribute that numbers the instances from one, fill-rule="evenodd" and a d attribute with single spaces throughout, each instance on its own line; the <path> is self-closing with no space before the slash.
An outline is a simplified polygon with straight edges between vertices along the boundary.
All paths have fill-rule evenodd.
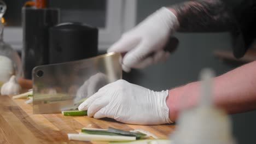
<path id="1" fill-rule="evenodd" d="M 25 100 L 13 100 L 0 95 L 0 143 L 107 143 L 69 141 L 68 133 L 79 133 L 80 129 L 108 127 L 150 131 L 166 139 L 174 125 L 131 125 L 112 119 L 95 119 L 88 116 L 68 117 L 62 114 L 33 115 L 32 105 Z"/>

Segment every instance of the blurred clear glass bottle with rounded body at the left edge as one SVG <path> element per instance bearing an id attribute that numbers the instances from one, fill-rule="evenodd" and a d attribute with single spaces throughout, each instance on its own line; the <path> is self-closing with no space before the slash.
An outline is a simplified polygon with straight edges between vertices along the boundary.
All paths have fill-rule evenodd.
<path id="1" fill-rule="evenodd" d="M 4 21 L 2 17 L 6 9 L 6 4 L 0 1 L 0 86 L 9 80 L 11 75 L 16 75 L 18 79 L 22 73 L 18 52 L 3 40 Z"/>

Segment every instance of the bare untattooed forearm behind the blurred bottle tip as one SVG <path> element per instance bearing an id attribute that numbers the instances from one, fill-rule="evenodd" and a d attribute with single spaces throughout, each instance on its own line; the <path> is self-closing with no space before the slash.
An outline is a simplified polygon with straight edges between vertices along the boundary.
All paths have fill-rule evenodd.
<path id="1" fill-rule="evenodd" d="M 169 118 L 175 121 L 182 109 L 198 104 L 200 81 L 170 89 L 166 104 Z M 213 102 L 227 113 L 256 109 L 256 61 L 214 78 Z"/>

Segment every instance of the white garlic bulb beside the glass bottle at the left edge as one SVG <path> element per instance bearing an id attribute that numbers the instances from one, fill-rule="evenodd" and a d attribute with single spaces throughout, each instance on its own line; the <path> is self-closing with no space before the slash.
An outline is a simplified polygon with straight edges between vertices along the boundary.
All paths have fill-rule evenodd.
<path id="1" fill-rule="evenodd" d="M 1 94 L 2 95 L 12 95 L 12 94 L 19 94 L 21 91 L 21 86 L 15 79 L 15 75 L 10 77 L 8 82 L 5 82 L 1 87 Z"/>

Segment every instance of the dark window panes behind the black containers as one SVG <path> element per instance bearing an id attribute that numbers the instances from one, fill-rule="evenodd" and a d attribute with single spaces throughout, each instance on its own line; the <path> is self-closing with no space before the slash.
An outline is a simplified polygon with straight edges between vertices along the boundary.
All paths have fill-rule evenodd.
<path id="1" fill-rule="evenodd" d="M 7 26 L 21 26 L 21 7 L 26 1 L 4 0 L 4 2 L 8 5 L 4 14 Z M 49 0 L 48 7 L 61 8 L 61 22 L 79 21 L 95 27 L 104 27 L 106 24 L 106 0 Z"/>

